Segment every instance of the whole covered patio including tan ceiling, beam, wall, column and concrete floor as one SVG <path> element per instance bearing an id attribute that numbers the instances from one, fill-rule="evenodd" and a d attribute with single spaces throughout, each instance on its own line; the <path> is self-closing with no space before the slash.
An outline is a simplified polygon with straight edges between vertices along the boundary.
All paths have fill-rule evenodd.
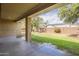
<path id="1" fill-rule="evenodd" d="M 55 46 L 31 40 L 31 17 L 62 6 L 55 3 L 0 4 L 0 55 L 5 56 L 64 56 L 70 55 Z M 48 8 L 49 7 L 49 8 Z M 18 21 L 25 19 L 25 38 L 17 38 Z M 23 40 L 25 39 L 25 40 Z M 39 39 L 39 38 L 38 38 Z M 50 44 L 49 44 L 50 45 Z"/>

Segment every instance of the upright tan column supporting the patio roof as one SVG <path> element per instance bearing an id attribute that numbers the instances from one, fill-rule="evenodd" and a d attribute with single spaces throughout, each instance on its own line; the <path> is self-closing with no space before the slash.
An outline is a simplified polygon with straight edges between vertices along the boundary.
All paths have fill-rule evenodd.
<path id="1" fill-rule="evenodd" d="M 26 17 L 26 41 L 31 41 L 31 18 Z"/>

